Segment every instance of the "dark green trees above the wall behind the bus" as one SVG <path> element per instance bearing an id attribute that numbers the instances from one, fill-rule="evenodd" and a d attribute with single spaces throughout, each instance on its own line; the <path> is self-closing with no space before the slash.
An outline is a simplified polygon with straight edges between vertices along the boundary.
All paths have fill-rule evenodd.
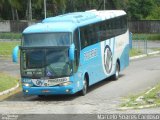
<path id="1" fill-rule="evenodd" d="M 47 17 L 91 9 L 123 9 L 127 11 L 130 20 L 160 19 L 159 0 L 106 0 L 105 5 L 104 0 L 47 0 L 46 3 Z M 33 19 L 44 18 L 43 4 L 43 0 L 32 1 Z M 29 0 L 1 0 L 0 19 L 29 20 L 28 6 Z"/>

